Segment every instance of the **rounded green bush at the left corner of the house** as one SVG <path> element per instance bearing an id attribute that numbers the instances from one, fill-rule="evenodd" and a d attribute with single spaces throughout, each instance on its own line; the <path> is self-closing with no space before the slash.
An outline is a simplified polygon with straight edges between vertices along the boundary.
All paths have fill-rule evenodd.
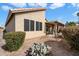
<path id="1" fill-rule="evenodd" d="M 5 47 L 9 51 L 18 50 L 24 42 L 25 33 L 24 32 L 9 32 L 4 35 L 6 45 Z"/>

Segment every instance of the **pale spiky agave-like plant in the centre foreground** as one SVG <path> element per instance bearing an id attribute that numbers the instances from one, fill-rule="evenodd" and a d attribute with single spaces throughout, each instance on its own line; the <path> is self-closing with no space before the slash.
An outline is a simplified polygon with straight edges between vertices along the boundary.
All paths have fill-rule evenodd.
<path id="1" fill-rule="evenodd" d="M 28 56 L 45 56 L 50 53 L 50 47 L 44 43 L 34 43 L 29 50 L 27 50 Z"/>

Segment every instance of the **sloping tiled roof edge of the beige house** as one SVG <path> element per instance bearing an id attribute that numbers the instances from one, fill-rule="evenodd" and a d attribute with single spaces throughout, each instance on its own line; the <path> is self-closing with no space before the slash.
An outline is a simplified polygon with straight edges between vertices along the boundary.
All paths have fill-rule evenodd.
<path id="1" fill-rule="evenodd" d="M 22 12 L 36 12 L 36 11 L 43 11 L 43 10 L 46 10 L 46 9 L 45 8 L 17 8 L 17 9 L 11 9 L 11 10 L 9 10 L 5 26 L 10 21 L 10 17 L 11 17 L 12 14 L 22 13 Z"/>

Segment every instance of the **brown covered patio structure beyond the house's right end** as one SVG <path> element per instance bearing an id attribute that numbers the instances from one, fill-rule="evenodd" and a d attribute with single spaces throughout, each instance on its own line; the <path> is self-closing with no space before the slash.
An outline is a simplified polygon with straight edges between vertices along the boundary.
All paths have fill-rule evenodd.
<path id="1" fill-rule="evenodd" d="M 64 24 L 58 21 L 46 22 L 46 33 L 47 34 L 54 34 L 55 32 L 59 33 L 63 27 Z"/>

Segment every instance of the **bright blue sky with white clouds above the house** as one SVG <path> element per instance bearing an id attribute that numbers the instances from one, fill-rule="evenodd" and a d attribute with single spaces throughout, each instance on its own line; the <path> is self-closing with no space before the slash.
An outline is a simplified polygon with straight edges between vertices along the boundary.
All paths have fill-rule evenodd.
<path id="1" fill-rule="evenodd" d="M 46 8 L 45 17 L 48 21 L 78 21 L 79 3 L 0 3 L 0 26 L 4 26 L 9 9 L 15 8 Z"/>

